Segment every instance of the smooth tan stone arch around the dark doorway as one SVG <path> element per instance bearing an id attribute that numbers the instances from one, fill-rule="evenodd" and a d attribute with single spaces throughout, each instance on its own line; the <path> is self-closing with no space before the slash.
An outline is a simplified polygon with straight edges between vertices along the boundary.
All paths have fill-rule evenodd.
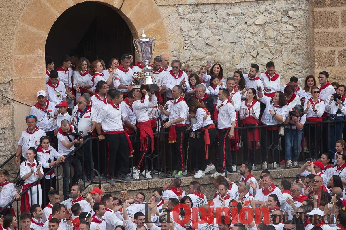
<path id="1" fill-rule="evenodd" d="M 36 102 L 36 92 L 45 89 L 45 43 L 55 20 L 68 8 L 88 0 L 29 0 L 15 28 L 13 39 L 13 94 L 16 100 L 30 105 Z M 169 52 L 163 16 L 154 0 L 98 0 L 117 11 L 137 39 L 146 34 L 157 39 L 154 55 Z M 122 4 L 123 3 L 123 4 Z M 153 17 L 154 16 L 154 17 Z M 30 90 L 26 90 L 30 86 Z M 22 123 L 22 114 L 29 107 L 15 104 L 15 123 Z M 19 120 L 18 120 L 19 119 Z M 16 122 L 18 121 L 18 122 Z M 25 124 L 24 124 L 25 125 Z M 18 129 L 17 129 L 18 128 Z M 16 137 L 19 130 L 16 127 Z"/>

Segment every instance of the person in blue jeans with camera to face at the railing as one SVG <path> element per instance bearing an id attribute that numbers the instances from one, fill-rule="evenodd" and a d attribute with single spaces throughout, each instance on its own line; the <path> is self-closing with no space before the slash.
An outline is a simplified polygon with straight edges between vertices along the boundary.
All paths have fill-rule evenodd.
<path id="1" fill-rule="evenodd" d="M 283 122 L 289 124 L 285 127 L 285 151 L 287 166 L 292 166 L 292 147 L 293 147 L 293 166 L 298 166 L 300 144 L 303 137 L 303 126 L 306 121 L 306 114 L 303 113 L 303 106 L 296 104 L 292 111 L 288 112 L 288 117 Z"/>

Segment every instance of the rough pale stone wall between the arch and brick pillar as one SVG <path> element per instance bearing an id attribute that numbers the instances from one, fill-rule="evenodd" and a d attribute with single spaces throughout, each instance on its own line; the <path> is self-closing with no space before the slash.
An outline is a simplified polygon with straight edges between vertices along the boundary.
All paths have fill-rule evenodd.
<path id="1" fill-rule="evenodd" d="M 266 0 L 224 4 L 160 6 L 172 48 L 198 71 L 211 60 L 225 76 L 248 72 L 253 63 L 265 70 L 272 60 L 287 82 L 310 74 L 309 1 Z M 180 28 L 180 29 L 179 29 Z"/>

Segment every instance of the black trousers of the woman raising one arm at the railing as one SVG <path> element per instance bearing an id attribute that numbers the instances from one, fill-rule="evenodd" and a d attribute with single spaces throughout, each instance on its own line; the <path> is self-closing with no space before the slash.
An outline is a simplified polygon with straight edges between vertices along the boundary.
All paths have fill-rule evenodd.
<path id="1" fill-rule="evenodd" d="M 279 127 L 276 130 L 261 129 L 262 162 L 268 161 L 268 150 L 273 151 L 273 162 L 279 161 Z"/>

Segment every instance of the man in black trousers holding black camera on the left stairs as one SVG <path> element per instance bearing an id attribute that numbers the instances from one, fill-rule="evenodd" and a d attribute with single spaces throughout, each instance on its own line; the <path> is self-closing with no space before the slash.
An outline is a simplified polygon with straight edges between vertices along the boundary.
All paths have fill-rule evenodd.
<path id="1" fill-rule="evenodd" d="M 76 143 L 82 144 L 83 138 L 76 137 L 75 128 L 70 125 L 70 122 L 67 120 L 62 120 L 60 128 L 58 129 L 58 152 L 62 156 L 66 156 L 71 151 L 75 149 L 74 145 Z M 83 133 L 80 133 L 80 136 L 83 137 Z M 74 155 L 74 153 L 72 154 Z M 78 178 L 82 176 L 82 167 L 81 162 L 76 157 L 67 157 L 63 163 L 63 190 L 64 190 L 64 199 L 69 199 L 70 194 L 70 178 L 71 178 L 71 166 L 74 170 L 74 175 L 72 177 L 72 184 L 78 182 Z"/>

